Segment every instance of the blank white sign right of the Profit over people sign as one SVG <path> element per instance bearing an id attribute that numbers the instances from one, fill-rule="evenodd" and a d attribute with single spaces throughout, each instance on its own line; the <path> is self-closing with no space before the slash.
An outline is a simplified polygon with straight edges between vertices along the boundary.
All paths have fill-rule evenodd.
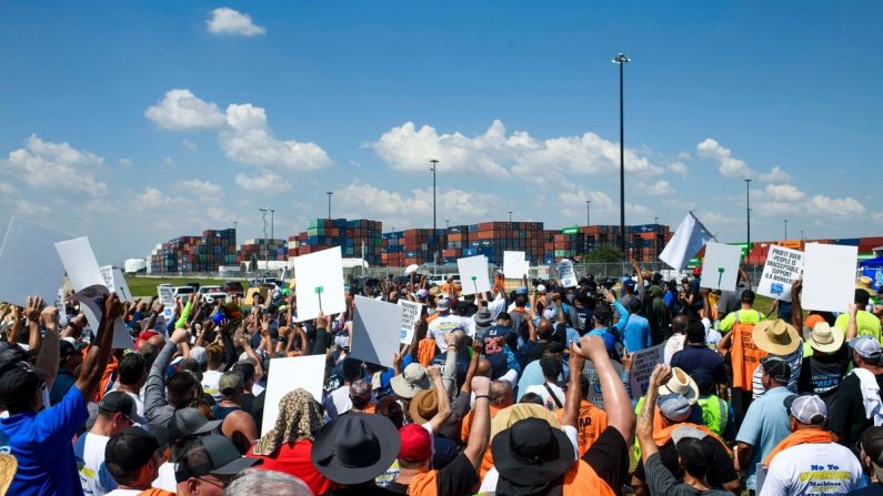
<path id="1" fill-rule="evenodd" d="M 803 308 L 846 312 L 855 298 L 857 260 L 857 246 L 807 244 L 803 253 Z"/>

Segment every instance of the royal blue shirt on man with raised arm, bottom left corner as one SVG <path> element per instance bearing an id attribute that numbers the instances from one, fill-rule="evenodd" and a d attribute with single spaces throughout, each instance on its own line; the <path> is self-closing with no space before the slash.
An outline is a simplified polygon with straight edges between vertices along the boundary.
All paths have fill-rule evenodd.
<path id="1" fill-rule="evenodd" d="M 73 435 L 86 424 L 89 411 L 77 387 L 39 413 L 22 413 L 0 419 L 0 431 L 9 437 L 19 468 L 10 495 L 82 495 L 73 456 Z"/>

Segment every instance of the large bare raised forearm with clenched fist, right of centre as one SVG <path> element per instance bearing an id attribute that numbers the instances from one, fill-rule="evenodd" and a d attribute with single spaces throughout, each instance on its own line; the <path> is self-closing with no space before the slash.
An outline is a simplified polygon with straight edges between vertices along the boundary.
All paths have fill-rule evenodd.
<path id="1" fill-rule="evenodd" d="M 625 444 L 632 444 L 634 435 L 634 411 L 616 370 L 610 362 L 604 340 L 601 336 L 584 335 L 580 338 L 580 354 L 592 361 L 601 385 L 608 425 L 622 434 Z"/>

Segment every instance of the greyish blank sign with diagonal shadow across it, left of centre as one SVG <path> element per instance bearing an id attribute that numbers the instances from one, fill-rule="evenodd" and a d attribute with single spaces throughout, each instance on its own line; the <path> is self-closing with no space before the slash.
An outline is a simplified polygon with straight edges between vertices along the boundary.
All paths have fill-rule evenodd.
<path id="1" fill-rule="evenodd" d="M 402 306 L 364 296 L 355 296 L 350 356 L 392 368 L 399 353 Z"/>

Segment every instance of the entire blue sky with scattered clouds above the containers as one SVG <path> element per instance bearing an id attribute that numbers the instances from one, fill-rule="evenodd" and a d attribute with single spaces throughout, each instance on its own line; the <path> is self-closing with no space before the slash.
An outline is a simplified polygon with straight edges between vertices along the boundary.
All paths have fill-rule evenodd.
<path id="1" fill-rule="evenodd" d="M 221 10 L 218 10 L 221 9 Z M 0 2 L 0 227 L 99 257 L 239 222 L 883 234 L 879 2 Z M 875 178 L 874 178 L 875 179 Z"/>

